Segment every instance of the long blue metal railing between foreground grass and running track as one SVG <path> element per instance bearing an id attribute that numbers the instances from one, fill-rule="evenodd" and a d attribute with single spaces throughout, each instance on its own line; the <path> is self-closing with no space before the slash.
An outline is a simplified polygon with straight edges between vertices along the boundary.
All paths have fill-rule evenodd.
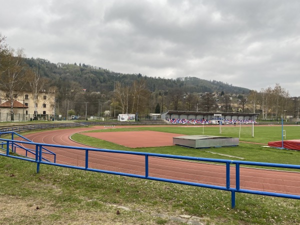
<path id="1" fill-rule="evenodd" d="M 300 165 L 292 165 L 292 164 L 280 164 L 280 163 L 267 163 L 267 162 L 251 162 L 251 161 L 239 161 L 239 160 L 226 160 L 226 159 L 214 159 L 214 158 L 200 158 L 200 157 L 191 157 L 191 156 L 180 156 L 180 155 L 169 155 L 169 154 L 157 154 L 157 153 L 147 153 L 147 152 L 135 152 L 135 151 L 122 151 L 122 150 L 112 150 L 112 149 L 103 149 L 103 148 L 89 148 L 89 147 L 75 147 L 75 146 L 65 146 L 65 145 L 55 145 L 55 144 L 45 144 L 45 143 L 35 143 L 35 142 L 26 142 L 20 140 L 11 140 L 11 139 L 1 139 L 2 149 L 5 150 L 5 153 L 0 153 L 2 156 L 7 156 L 11 158 L 18 158 L 22 160 L 27 160 L 31 162 L 35 162 L 37 164 L 36 172 L 39 172 L 40 164 L 48 164 L 48 165 L 55 165 L 61 167 L 68 167 L 68 168 L 75 168 L 75 169 L 82 169 L 87 171 L 95 171 L 95 172 L 102 172 L 102 173 L 109 173 L 109 174 L 116 174 L 116 175 L 123 175 L 123 176 L 130 176 L 136 178 L 143 178 L 143 179 L 150 179 L 150 180 L 157 180 L 157 181 L 164 181 L 164 182 L 171 182 L 171 183 L 178 183 L 178 184 L 185 184 L 185 185 L 192 185 L 192 186 L 199 186 L 199 187 L 206 187 L 218 190 L 225 190 L 231 192 L 231 207 L 235 207 L 235 193 L 250 193 L 250 194 L 259 194 L 259 195 L 267 195 L 267 196 L 275 196 L 275 197 L 284 197 L 284 198 L 293 198 L 293 199 L 300 199 L 300 195 L 295 194 L 286 194 L 286 193 L 276 193 L 276 192 L 268 192 L 268 191 L 257 191 L 257 190 L 250 190 L 250 189 L 243 189 L 240 188 L 240 165 L 255 165 L 255 166 L 267 166 L 267 167 L 279 167 L 279 168 L 292 168 L 292 169 L 300 169 Z M 9 154 L 9 146 L 18 146 L 19 143 L 31 144 L 35 146 L 35 150 L 31 149 L 30 151 L 35 151 L 35 158 L 24 158 L 21 156 L 15 156 Z M 6 149 L 4 149 L 4 146 Z M 55 162 L 50 162 L 45 160 L 42 157 L 42 154 L 45 151 L 44 147 L 55 147 L 55 148 L 67 148 L 73 150 L 82 150 L 85 152 L 84 154 L 84 166 L 78 165 L 69 165 L 69 164 L 60 164 Z M 89 152 L 110 152 L 110 153 L 120 153 L 120 154 L 130 154 L 130 155 L 143 155 L 144 156 L 144 174 L 135 174 L 135 173 L 126 173 L 126 172 L 118 172 L 112 170 L 104 170 L 104 169 L 96 169 L 89 167 Z M 185 160 L 192 160 L 192 161 L 202 161 L 202 162 L 217 162 L 217 163 L 224 163 L 226 168 L 226 179 L 224 186 L 220 185 L 211 185 L 205 183 L 197 183 L 197 182 L 190 182 L 190 181 L 182 181 L 182 180 L 175 180 L 175 179 L 168 179 L 168 178 L 161 178 L 158 176 L 149 176 L 149 162 L 148 157 L 161 157 L 161 158 L 173 158 L 173 159 L 185 159 Z M 235 165 L 235 187 L 231 187 L 230 184 L 230 165 Z"/>

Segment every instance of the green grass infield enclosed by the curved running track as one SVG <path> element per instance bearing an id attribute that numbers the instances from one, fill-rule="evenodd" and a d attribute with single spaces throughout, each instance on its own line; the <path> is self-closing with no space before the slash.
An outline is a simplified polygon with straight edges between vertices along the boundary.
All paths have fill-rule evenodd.
<path id="1" fill-rule="evenodd" d="M 186 155 L 206 158 L 222 158 L 230 160 L 244 161 L 261 161 L 284 164 L 298 164 L 300 159 L 300 151 L 286 150 L 278 148 L 263 147 L 261 144 L 267 145 L 268 141 L 281 140 L 281 126 L 255 126 L 254 137 L 242 136 L 238 146 L 228 147 L 211 147 L 203 149 L 187 148 L 182 146 L 163 146 L 163 147 L 146 147 L 146 148 L 129 148 L 115 143 L 99 140 L 93 137 L 87 137 L 80 133 L 73 134 L 72 139 L 85 143 L 94 147 L 109 148 L 117 150 L 133 150 L 163 154 Z M 286 130 L 286 138 L 300 139 L 300 126 L 284 126 Z M 153 130 L 160 132 L 170 132 L 185 135 L 202 134 L 203 127 L 195 126 L 148 126 L 148 127 L 126 127 L 113 129 L 100 129 L 88 132 L 114 132 L 114 131 L 132 131 L 132 130 Z M 204 126 L 204 134 L 217 135 L 218 126 Z M 222 136 L 234 137 L 234 133 L 222 132 Z M 112 134 L 113 135 L 113 134 Z M 134 140 L 133 140 L 134 141 Z M 245 141 L 245 142 L 242 142 Z M 250 142 L 250 143 L 249 143 Z"/>

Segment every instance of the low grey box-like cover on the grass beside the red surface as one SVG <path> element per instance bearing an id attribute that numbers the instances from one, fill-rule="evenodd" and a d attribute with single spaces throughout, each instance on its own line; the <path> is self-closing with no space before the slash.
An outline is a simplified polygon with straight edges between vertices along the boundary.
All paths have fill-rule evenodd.
<path id="1" fill-rule="evenodd" d="M 173 144 L 193 148 L 236 146 L 238 145 L 238 142 L 238 137 L 208 135 L 185 135 L 173 137 Z"/>

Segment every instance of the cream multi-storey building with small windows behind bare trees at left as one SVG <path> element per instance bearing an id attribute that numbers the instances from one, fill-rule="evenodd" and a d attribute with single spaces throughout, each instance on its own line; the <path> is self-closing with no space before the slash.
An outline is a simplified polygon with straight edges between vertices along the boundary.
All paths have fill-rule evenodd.
<path id="1" fill-rule="evenodd" d="M 55 93 L 40 91 L 36 99 L 29 91 L 15 94 L 13 99 L 13 116 L 11 116 L 10 100 L 5 91 L 0 90 L 0 121 L 32 119 L 51 120 L 55 113 Z"/>

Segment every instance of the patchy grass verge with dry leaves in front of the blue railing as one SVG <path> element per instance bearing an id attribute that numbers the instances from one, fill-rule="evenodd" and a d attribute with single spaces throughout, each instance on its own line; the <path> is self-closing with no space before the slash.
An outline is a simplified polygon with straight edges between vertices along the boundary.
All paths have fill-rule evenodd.
<path id="1" fill-rule="evenodd" d="M 300 222 L 294 199 L 236 193 L 231 209 L 226 191 L 49 165 L 35 171 L 0 156 L 0 224 L 183 224 L 180 215 L 203 224 Z"/>

